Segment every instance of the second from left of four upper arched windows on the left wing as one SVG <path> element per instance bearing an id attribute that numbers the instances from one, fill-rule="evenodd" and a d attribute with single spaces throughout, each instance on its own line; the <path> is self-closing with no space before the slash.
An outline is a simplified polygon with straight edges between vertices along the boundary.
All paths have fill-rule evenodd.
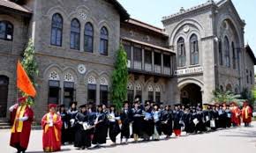
<path id="1" fill-rule="evenodd" d="M 80 49 L 80 23 L 77 18 L 72 19 L 71 24 L 71 49 Z"/>

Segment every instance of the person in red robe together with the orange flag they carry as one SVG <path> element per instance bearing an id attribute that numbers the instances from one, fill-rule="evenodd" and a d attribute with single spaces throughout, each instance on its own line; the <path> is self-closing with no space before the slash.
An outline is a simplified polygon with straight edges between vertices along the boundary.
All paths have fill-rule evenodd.
<path id="1" fill-rule="evenodd" d="M 26 74 L 21 63 L 17 64 L 17 88 L 26 95 L 18 99 L 18 104 L 10 107 L 12 120 L 10 146 L 16 148 L 18 153 L 24 153 L 27 149 L 34 112 L 26 103 L 28 96 L 35 97 L 34 85 Z"/>

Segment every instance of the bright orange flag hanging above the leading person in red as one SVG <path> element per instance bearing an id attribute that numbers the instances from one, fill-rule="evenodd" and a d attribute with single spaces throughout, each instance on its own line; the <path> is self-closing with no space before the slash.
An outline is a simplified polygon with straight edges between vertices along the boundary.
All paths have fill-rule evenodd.
<path id="1" fill-rule="evenodd" d="M 20 91 L 25 92 L 28 96 L 34 98 L 36 95 L 34 85 L 31 83 L 29 77 L 26 75 L 25 69 L 23 69 L 19 61 L 17 64 L 17 87 Z"/>

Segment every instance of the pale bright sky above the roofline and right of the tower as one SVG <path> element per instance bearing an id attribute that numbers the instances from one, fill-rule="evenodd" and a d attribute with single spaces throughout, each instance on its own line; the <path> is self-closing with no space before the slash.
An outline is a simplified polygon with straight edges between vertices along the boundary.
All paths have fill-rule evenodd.
<path id="1" fill-rule="evenodd" d="M 162 17 L 176 13 L 181 7 L 189 9 L 207 0 L 118 0 L 131 15 L 147 24 L 162 27 Z M 219 1 L 219 0 L 218 0 Z M 245 44 L 249 44 L 256 55 L 256 1 L 232 0 L 240 18 L 245 19 Z"/>

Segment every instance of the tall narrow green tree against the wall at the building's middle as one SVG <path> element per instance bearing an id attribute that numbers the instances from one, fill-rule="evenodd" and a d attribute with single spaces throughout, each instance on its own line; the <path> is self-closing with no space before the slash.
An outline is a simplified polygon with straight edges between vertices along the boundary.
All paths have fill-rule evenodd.
<path id="1" fill-rule="evenodd" d="M 122 45 L 117 50 L 116 59 L 112 75 L 111 100 L 117 111 L 120 111 L 127 97 L 128 82 L 127 55 Z"/>

